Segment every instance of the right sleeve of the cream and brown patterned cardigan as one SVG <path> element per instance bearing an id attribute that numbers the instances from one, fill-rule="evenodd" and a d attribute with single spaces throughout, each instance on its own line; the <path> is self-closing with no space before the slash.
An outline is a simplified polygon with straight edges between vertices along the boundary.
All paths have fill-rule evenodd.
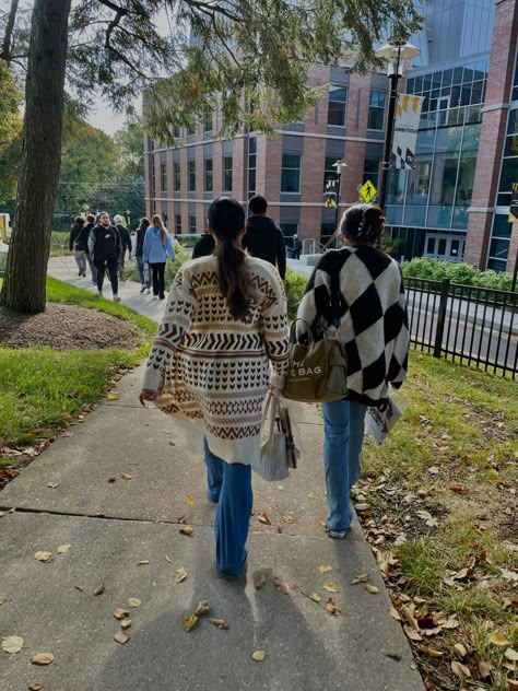
<path id="1" fill-rule="evenodd" d="M 261 315 L 267 353 L 273 368 L 270 382 L 276 388 L 283 388 L 290 356 L 287 302 L 284 285 L 274 271 L 271 273 L 270 290 L 262 302 Z"/>

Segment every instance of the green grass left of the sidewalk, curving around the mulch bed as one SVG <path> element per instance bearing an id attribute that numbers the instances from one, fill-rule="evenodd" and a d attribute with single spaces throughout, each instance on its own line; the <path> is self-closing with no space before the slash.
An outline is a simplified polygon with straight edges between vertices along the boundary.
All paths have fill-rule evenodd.
<path id="1" fill-rule="evenodd" d="M 0 348 L 0 446 L 54 436 L 68 424 L 67 415 L 78 414 L 103 398 L 118 370 L 138 364 L 156 332 L 156 324 L 132 309 L 52 278 L 47 279 L 47 300 L 131 321 L 140 328 L 142 342 L 132 352 Z"/>

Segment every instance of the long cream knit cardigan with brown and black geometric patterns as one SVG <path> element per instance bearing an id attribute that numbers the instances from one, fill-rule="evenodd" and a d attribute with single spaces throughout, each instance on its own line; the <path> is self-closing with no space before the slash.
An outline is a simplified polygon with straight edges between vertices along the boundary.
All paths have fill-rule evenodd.
<path id="1" fill-rule="evenodd" d="M 162 390 L 165 377 L 166 412 L 202 422 L 211 452 L 245 465 L 260 453 L 268 382 L 282 388 L 289 358 L 279 273 L 262 259 L 248 257 L 247 265 L 257 300 L 246 321 L 228 311 L 215 256 L 179 269 L 142 385 Z"/>

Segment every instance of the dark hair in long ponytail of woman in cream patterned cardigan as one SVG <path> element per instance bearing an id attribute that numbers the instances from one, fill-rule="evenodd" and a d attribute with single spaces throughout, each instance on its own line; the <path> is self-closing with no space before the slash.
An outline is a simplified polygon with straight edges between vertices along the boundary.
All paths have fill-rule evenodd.
<path id="1" fill-rule="evenodd" d="M 235 242 L 245 226 L 245 210 L 236 199 L 220 197 L 209 207 L 209 225 L 220 239 L 215 248 L 220 290 L 232 316 L 244 320 L 254 300 L 246 254 Z"/>

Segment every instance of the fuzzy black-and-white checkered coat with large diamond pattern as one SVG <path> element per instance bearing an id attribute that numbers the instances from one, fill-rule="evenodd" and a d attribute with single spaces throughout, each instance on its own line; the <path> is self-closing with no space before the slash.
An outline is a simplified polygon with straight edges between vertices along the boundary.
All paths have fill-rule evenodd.
<path id="1" fill-rule="evenodd" d="M 407 378 L 409 324 L 401 269 L 367 245 L 328 251 L 316 266 L 297 313 L 317 340 L 325 329 L 329 335 L 334 331 L 333 272 L 339 274 L 339 339 L 348 356 L 349 397 L 380 405 L 388 383 L 398 386 Z"/>

